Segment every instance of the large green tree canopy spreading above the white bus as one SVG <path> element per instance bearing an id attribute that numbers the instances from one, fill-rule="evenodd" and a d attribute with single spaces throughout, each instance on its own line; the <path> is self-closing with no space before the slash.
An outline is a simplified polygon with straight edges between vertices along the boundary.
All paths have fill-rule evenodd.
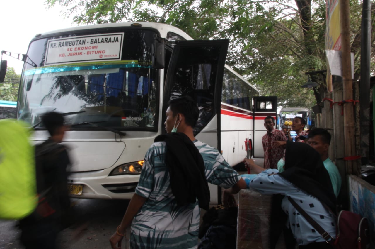
<path id="1" fill-rule="evenodd" d="M 46 0 L 49 6 L 56 3 L 78 24 L 161 22 L 193 39 L 230 39 L 227 64 L 261 95 L 278 96 L 284 107 L 312 107 L 323 98 L 324 77 L 312 75 L 319 85 L 316 91 L 300 86 L 307 82 L 306 72 L 326 69 L 325 0 Z M 362 1 L 350 4 L 358 77 Z M 372 54 L 374 47 L 373 42 Z"/>

